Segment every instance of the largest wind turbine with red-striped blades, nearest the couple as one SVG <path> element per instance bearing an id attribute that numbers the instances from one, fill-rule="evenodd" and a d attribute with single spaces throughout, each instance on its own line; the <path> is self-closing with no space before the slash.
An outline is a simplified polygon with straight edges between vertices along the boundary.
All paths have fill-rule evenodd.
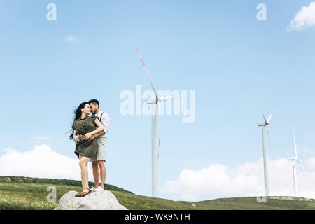
<path id="1" fill-rule="evenodd" d="M 151 112 L 152 112 L 152 126 L 151 126 L 151 146 L 152 146 L 152 197 L 157 196 L 157 163 L 158 163 L 158 154 L 156 151 L 157 148 L 157 132 L 156 132 L 156 106 L 158 106 L 158 117 L 159 117 L 159 123 L 160 123 L 160 115 L 159 115 L 159 104 L 160 102 L 166 101 L 168 99 L 177 98 L 180 96 L 163 96 L 159 97 L 158 92 L 156 92 L 155 87 L 153 85 L 150 73 L 148 72 L 148 69 L 146 68 L 146 64 L 144 63 L 144 59 L 142 59 L 140 52 L 138 48 L 136 48 L 138 55 L 141 59 L 142 64 L 144 64 L 144 68 L 146 69 L 146 73 L 148 75 L 148 79 L 150 80 L 152 90 L 155 94 L 155 97 L 153 99 L 148 99 L 146 101 L 147 104 L 151 104 Z M 159 146 L 160 146 L 160 137 L 159 137 Z"/>

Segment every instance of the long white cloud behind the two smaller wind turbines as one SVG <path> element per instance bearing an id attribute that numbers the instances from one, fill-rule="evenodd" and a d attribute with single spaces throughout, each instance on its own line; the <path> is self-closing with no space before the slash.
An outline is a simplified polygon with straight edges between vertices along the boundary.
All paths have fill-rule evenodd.
<path id="1" fill-rule="evenodd" d="M 307 160 L 307 171 L 297 167 L 297 189 L 301 197 L 315 198 L 315 158 Z M 269 194 L 293 195 L 292 162 L 286 158 L 268 159 Z M 206 169 L 183 169 L 176 180 L 158 188 L 160 196 L 173 200 L 210 200 L 218 197 L 265 195 L 262 158 L 237 167 L 210 165 Z"/>

